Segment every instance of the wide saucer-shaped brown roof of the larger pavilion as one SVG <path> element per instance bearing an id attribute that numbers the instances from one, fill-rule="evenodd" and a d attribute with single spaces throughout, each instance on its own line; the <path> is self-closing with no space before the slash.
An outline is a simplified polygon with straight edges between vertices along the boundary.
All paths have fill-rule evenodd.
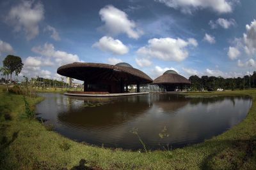
<path id="1" fill-rule="evenodd" d="M 74 62 L 58 67 L 57 73 L 77 80 L 86 80 L 90 83 L 120 81 L 121 79 L 128 83 L 152 83 L 153 80 L 147 74 L 133 68 L 130 64 L 128 67 L 127 64 L 124 65 L 124 63 L 113 66 L 101 63 Z"/>

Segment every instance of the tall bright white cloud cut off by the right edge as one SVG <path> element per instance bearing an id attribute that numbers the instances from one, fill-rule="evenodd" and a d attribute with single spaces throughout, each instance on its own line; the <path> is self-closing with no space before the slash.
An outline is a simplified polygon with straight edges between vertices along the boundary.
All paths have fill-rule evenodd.
<path id="1" fill-rule="evenodd" d="M 246 25 L 246 33 L 243 34 L 244 49 L 247 54 L 256 52 L 256 20 L 253 20 L 250 25 Z"/>

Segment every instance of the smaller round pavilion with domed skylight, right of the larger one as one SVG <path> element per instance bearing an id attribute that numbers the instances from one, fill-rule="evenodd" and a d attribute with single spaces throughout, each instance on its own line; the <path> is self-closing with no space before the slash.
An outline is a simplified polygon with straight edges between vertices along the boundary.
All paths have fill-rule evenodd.
<path id="1" fill-rule="evenodd" d="M 191 85 L 191 82 L 176 71 L 168 70 L 163 75 L 157 77 L 152 84 L 163 85 L 166 92 L 174 92 L 175 89 L 184 89 L 185 86 Z"/>

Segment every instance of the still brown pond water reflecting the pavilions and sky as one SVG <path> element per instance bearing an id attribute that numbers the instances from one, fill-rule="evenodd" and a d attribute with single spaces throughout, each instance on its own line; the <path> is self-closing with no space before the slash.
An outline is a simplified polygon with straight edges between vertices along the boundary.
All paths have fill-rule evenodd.
<path id="1" fill-rule="evenodd" d="M 145 94 L 124 97 L 74 97 L 40 94 L 36 111 L 54 131 L 92 145 L 137 150 L 138 135 L 151 150 L 199 143 L 243 120 L 252 99 L 247 96 L 188 97 Z M 163 132 L 163 129 L 166 131 Z M 160 138 L 159 134 L 166 134 Z"/>

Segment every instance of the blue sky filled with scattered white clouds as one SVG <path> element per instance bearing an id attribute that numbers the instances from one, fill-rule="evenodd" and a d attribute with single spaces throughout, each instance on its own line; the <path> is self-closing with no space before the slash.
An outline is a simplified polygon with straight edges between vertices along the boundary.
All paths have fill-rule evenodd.
<path id="1" fill-rule="evenodd" d="M 19 77 L 56 78 L 72 62 L 127 62 L 157 78 L 168 69 L 243 77 L 256 70 L 255 0 L 0 1 L 0 60 Z M 3 66 L 3 62 L 0 63 Z"/>

